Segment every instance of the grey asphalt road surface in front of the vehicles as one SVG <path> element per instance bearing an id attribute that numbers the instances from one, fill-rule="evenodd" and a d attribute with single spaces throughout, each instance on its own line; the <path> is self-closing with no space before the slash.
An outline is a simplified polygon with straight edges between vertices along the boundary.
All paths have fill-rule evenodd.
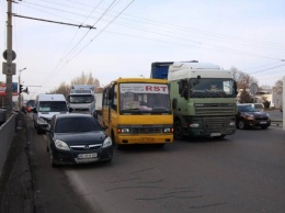
<path id="1" fill-rule="evenodd" d="M 26 141 L 22 149 L 27 155 L 13 152 L 5 187 L 1 178 L 0 212 L 285 210 L 285 131 L 278 126 L 238 130 L 224 139 L 174 142 L 164 149 L 133 146 L 115 150 L 112 164 L 54 169 L 45 136 L 36 134 L 29 116 L 24 121 L 26 131 L 19 131 L 18 139 Z M 26 162 L 30 168 L 18 171 Z"/>

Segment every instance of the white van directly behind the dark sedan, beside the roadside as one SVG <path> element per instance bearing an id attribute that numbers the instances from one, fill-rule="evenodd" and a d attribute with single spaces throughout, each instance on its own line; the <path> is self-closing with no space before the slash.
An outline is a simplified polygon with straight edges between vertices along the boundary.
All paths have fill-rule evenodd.
<path id="1" fill-rule="evenodd" d="M 37 134 L 45 133 L 55 114 L 68 113 L 66 98 L 64 94 L 37 94 L 32 112 Z"/>

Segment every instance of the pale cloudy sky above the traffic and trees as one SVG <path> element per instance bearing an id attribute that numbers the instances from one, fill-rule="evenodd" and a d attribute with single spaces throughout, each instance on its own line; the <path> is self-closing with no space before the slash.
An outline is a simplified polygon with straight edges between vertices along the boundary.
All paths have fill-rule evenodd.
<path id="1" fill-rule="evenodd" d="M 12 18 L 13 82 L 21 72 L 33 99 L 82 72 L 103 87 L 148 78 L 155 61 L 198 60 L 274 86 L 285 75 L 284 8 L 284 0 L 14 0 L 12 12 L 22 16 Z M 7 0 L 0 24 L 3 52 Z"/>

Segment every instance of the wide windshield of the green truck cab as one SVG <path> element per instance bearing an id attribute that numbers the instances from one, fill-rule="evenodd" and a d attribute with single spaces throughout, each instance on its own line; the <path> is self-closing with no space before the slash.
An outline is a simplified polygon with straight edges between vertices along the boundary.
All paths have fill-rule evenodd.
<path id="1" fill-rule="evenodd" d="M 236 98 L 233 80 L 223 78 L 192 78 L 191 98 Z"/>

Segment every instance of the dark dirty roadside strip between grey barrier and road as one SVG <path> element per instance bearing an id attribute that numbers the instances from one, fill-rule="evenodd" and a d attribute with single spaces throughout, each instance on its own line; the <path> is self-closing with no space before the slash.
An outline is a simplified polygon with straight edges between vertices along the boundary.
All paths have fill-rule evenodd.
<path id="1" fill-rule="evenodd" d="M 0 179 L 0 212 L 34 212 L 30 148 L 24 120 L 22 113 L 16 115 L 14 137 Z"/>

